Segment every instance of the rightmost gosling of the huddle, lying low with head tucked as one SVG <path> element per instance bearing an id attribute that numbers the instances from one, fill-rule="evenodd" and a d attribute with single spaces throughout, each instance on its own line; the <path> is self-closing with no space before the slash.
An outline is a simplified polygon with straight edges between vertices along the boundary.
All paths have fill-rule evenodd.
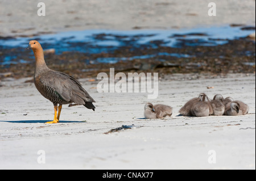
<path id="1" fill-rule="evenodd" d="M 225 115 L 238 116 L 246 115 L 249 112 L 249 106 L 240 100 L 230 102 L 226 105 Z"/>

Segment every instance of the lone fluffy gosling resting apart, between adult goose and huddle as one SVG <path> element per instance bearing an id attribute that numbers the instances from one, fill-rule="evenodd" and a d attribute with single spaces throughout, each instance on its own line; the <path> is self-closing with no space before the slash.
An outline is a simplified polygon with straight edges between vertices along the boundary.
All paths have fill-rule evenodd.
<path id="1" fill-rule="evenodd" d="M 163 104 L 156 104 L 153 106 L 151 103 L 147 103 L 144 107 L 144 116 L 147 119 L 156 119 L 163 117 L 171 117 L 172 107 Z"/>

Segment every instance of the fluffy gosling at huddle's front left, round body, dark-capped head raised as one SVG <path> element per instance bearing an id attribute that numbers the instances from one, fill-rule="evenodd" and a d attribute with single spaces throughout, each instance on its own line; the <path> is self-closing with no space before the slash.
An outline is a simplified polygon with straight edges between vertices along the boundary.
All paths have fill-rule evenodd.
<path id="1" fill-rule="evenodd" d="M 209 99 L 206 95 L 203 95 L 200 101 L 193 104 L 191 113 L 196 117 L 209 116 L 213 114 L 212 106 L 210 106 Z"/>

